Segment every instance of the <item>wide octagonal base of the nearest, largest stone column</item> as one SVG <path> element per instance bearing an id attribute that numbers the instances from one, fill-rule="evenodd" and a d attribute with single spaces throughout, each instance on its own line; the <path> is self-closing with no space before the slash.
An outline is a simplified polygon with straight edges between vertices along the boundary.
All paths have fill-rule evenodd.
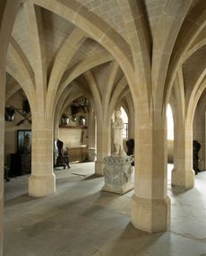
<path id="1" fill-rule="evenodd" d="M 133 195 L 131 222 L 143 231 L 166 231 L 170 226 L 170 199 L 140 199 Z"/>

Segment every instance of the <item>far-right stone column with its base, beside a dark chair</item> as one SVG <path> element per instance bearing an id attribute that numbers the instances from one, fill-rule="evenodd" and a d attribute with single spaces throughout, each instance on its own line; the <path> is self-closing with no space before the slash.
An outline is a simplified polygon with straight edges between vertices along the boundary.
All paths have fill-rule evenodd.
<path id="1" fill-rule="evenodd" d="M 194 186 L 193 172 L 193 129 L 192 126 L 175 125 L 174 132 L 174 169 L 172 185 L 185 190 Z"/>

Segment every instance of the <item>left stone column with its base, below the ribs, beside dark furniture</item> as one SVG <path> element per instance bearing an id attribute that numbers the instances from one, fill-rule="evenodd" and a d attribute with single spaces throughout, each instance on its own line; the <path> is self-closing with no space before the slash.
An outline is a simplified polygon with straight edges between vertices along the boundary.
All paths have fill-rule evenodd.
<path id="1" fill-rule="evenodd" d="M 45 197 L 56 190 L 53 172 L 53 131 L 48 128 L 36 128 L 32 119 L 31 176 L 29 194 L 33 197 Z"/>

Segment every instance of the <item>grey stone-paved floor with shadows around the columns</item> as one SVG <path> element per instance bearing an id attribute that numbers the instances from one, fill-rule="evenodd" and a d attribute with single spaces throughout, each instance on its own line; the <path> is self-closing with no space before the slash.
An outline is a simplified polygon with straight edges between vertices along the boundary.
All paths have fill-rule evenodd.
<path id="1" fill-rule="evenodd" d="M 28 176 L 5 182 L 4 256 L 206 256 L 206 172 L 193 190 L 170 186 L 171 228 L 148 234 L 130 223 L 130 198 L 103 192 L 94 163 L 56 171 L 56 194 L 28 196 Z"/>

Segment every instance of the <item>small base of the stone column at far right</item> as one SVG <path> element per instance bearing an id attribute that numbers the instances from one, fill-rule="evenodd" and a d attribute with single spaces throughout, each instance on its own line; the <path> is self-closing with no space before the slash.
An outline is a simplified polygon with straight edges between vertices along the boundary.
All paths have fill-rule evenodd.
<path id="1" fill-rule="evenodd" d="M 176 169 L 172 170 L 172 186 L 181 187 L 185 190 L 193 189 L 194 187 L 194 172 L 178 172 Z"/>

